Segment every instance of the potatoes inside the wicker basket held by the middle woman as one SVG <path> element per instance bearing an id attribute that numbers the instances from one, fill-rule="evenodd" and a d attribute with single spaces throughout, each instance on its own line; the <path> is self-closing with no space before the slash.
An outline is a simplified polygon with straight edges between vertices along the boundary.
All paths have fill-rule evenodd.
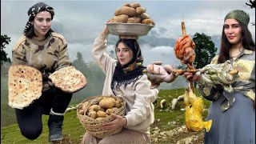
<path id="1" fill-rule="evenodd" d="M 78 106 L 78 114 L 86 114 L 90 118 L 102 120 L 122 107 L 124 102 L 120 97 L 98 97 L 91 102 L 83 102 Z"/>

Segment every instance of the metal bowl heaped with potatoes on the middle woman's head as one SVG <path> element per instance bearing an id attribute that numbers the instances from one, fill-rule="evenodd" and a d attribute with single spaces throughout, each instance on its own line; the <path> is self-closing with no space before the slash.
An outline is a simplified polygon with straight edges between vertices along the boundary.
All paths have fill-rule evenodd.
<path id="1" fill-rule="evenodd" d="M 154 20 L 139 3 L 126 3 L 115 10 L 114 17 L 106 23 L 110 34 L 118 36 L 144 36 L 155 26 Z"/>

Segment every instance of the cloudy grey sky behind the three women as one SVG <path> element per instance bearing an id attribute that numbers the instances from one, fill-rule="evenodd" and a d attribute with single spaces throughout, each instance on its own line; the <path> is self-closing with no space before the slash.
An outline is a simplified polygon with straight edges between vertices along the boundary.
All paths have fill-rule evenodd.
<path id="1" fill-rule="evenodd" d="M 6 46 L 9 57 L 14 43 L 21 36 L 28 20 L 27 10 L 36 2 L 39 1 L 1 0 L 1 34 L 11 37 L 10 45 Z M 246 7 L 247 0 L 45 0 L 41 2 L 54 7 L 52 28 L 66 38 L 70 58 L 74 60 L 77 52 L 80 51 L 86 62 L 93 61 L 90 50 L 94 38 L 102 30 L 104 23 L 114 17 L 114 11 L 125 3 L 139 2 L 146 8 L 146 13 L 156 22 L 152 30 L 159 38 L 180 37 L 182 21 L 186 23 L 186 33 L 192 36 L 196 32 L 209 36 L 220 35 L 223 18 L 230 10 L 235 9 L 245 10 L 250 14 L 250 22 L 255 22 L 255 9 Z M 255 26 L 249 24 L 249 29 L 255 40 Z M 154 61 L 162 61 L 166 64 L 179 62 L 171 46 L 142 45 L 141 48 L 145 65 Z M 108 50 L 112 49 L 113 46 L 109 45 Z"/>

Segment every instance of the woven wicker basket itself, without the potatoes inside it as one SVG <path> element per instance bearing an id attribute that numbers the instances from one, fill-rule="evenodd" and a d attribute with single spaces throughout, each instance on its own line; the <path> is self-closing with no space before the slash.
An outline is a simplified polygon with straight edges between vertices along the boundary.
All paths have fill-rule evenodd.
<path id="1" fill-rule="evenodd" d="M 83 102 L 90 102 L 90 105 L 91 105 L 94 102 L 94 100 L 96 98 L 99 98 L 99 97 L 102 97 L 102 96 L 93 96 L 93 97 L 90 97 L 90 98 L 86 98 L 80 104 L 82 104 Z M 112 97 L 112 98 L 114 98 L 115 96 L 110 95 L 110 96 L 103 96 L 103 97 Z M 124 105 L 121 106 L 120 108 L 118 108 L 118 110 L 115 110 L 114 114 L 124 116 L 126 101 L 123 98 L 122 98 L 122 100 L 124 102 Z M 94 119 L 94 118 L 90 118 L 86 114 L 84 114 L 84 115 L 78 114 L 78 111 L 81 110 L 80 107 L 81 106 L 78 106 L 78 109 L 77 109 L 77 115 L 78 115 L 79 121 L 82 124 L 82 126 L 86 129 L 86 131 L 89 134 L 93 135 L 94 137 L 104 138 L 108 135 L 118 134 L 122 131 L 122 127 L 118 128 L 117 130 L 102 130 L 102 128 L 101 128 L 102 123 L 111 122 L 111 121 L 114 120 L 114 118 L 111 115 L 102 119 L 102 120 L 97 120 L 97 119 Z M 88 109 L 88 107 L 87 107 L 87 109 Z"/>

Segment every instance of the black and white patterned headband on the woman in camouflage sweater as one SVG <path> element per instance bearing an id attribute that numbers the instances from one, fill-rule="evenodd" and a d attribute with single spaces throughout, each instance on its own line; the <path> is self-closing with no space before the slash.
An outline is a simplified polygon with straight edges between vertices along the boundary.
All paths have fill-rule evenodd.
<path id="1" fill-rule="evenodd" d="M 27 11 L 27 14 L 29 16 L 29 21 L 26 22 L 24 33 L 28 32 L 31 29 L 32 21 L 35 18 L 35 15 L 38 14 L 41 11 L 48 11 L 51 14 L 51 19 L 54 18 L 54 8 L 51 6 L 46 5 L 43 2 L 38 2 L 34 6 L 31 6 L 30 9 Z"/>

